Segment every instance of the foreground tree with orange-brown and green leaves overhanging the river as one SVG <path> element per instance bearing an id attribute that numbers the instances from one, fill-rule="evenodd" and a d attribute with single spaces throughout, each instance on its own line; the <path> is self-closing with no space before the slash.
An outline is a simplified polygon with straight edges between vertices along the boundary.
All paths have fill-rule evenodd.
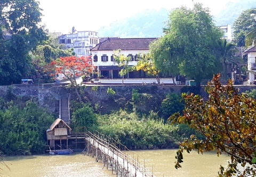
<path id="1" fill-rule="evenodd" d="M 175 167 L 181 167 L 183 150 L 198 153 L 216 150 L 218 156 L 230 156 L 227 169 L 221 166 L 219 176 L 255 176 L 256 166 L 252 164 L 256 163 L 256 101 L 246 94 L 238 94 L 231 80 L 221 85 L 220 74 L 213 77 L 206 91 L 209 99 L 205 101 L 193 93 L 183 94 L 183 115 L 172 116 L 173 123 L 188 124 L 205 136 L 205 140 L 198 140 L 191 135 L 180 143 Z M 244 167 L 242 171 L 238 164 Z"/>

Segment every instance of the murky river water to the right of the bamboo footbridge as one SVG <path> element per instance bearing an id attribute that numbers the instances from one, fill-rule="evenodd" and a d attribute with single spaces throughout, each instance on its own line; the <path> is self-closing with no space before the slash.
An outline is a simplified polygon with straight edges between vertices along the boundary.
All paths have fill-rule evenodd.
<path id="1" fill-rule="evenodd" d="M 203 176 L 218 176 L 220 165 L 227 166 L 228 159 L 226 155 L 219 157 L 215 152 L 204 152 L 204 154 L 197 154 L 197 151 L 192 151 L 190 154 L 183 153 L 182 168 L 175 169 L 175 154 L 176 149 L 157 149 L 157 150 L 138 150 L 141 157 L 145 158 L 146 167 L 152 169 L 155 167 L 158 173 L 154 172 L 157 176 L 182 176 L 182 177 L 203 177 Z M 132 152 L 129 154 L 133 155 Z M 134 157 L 136 157 L 134 155 Z M 144 163 L 143 160 L 140 160 Z M 149 165 L 149 164 L 151 165 Z M 154 170 L 153 167 L 153 170 Z"/>

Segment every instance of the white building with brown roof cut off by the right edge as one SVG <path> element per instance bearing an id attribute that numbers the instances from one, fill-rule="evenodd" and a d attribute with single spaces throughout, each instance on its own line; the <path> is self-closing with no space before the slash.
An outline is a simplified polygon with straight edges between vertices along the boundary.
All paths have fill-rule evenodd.
<path id="1" fill-rule="evenodd" d="M 256 46 L 246 50 L 245 53 L 247 53 L 248 82 L 252 84 L 253 80 L 256 79 Z"/>

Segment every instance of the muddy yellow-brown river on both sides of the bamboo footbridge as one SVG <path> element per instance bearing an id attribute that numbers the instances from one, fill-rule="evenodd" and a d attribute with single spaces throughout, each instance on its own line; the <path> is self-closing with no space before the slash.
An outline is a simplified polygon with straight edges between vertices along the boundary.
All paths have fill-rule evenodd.
<path id="1" fill-rule="evenodd" d="M 157 176 L 182 176 L 182 177 L 200 177 L 200 176 L 218 176 L 220 164 L 227 166 L 228 156 L 221 155 L 217 157 L 214 152 L 206 152 L 198 155 L 196 151 L 191 154 L 184 153 L 184 163 L 182 168 L 174 168 L 175 149 L 161 150 L 139 150 L 135 151 L 141 157 L 141 163 L 146 167 L 154 169 Z M 137 154 L 129 152 L 134 158 Z M 144 160 L 145 158 L 145 160 Z M 7 170 L 3 164 L 0 164 L 0 176 L 11 177 L 114 177 L 111 170 L 102 170 L 102 163 L 95 162 L 95 158 L 83 155 L 82 152 L 75 152 L 73 155 L 33 155 L 33 156 L 6 156 L 6 164 L 11 168 Z M 150 165 L 149 165 L 150 164 Z M 158 171 L 158 172 L 156 172 Z"/>

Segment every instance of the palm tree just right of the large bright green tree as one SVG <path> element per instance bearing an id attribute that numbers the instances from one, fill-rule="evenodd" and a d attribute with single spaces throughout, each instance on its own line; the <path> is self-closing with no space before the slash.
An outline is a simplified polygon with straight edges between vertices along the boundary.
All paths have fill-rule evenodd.
<path id="1" fill-rule="evenodd" d="M 235 56 L 235 52 L 238 51 L 236 49 L 236 46 L 232 43 L 227 42 L 226 39 L 221 39 L 219 41 L 219 46 L 223 66 L 223 79 L 227 81 L 228 64 L 232 63 L 233 65 L 238 66 L 238 63 L 241 63 L 240 60 L 242 60 L 242 58 Z"/>

